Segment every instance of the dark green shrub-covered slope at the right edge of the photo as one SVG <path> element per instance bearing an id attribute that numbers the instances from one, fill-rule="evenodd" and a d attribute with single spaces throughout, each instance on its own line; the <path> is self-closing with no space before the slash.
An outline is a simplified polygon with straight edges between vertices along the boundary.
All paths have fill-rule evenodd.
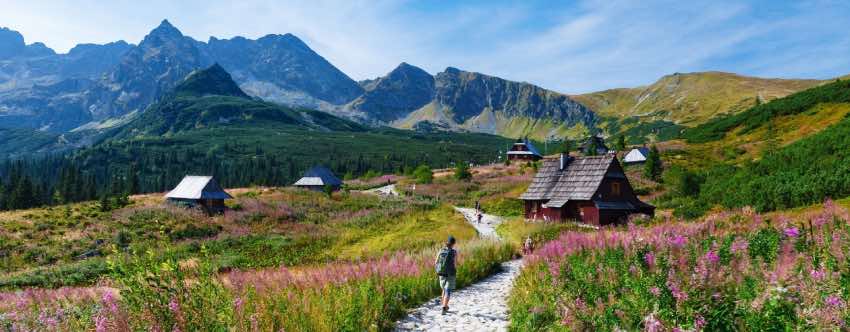
<path id="1" fill-rule="evenodd" d="M 747 158 L 703 166 L 698 194 L 678 208 L 773 211 L 850 195 L 848 113 L 850 82 L 836 81 L 686 130 L 692 157 L 725 146 Z"/>

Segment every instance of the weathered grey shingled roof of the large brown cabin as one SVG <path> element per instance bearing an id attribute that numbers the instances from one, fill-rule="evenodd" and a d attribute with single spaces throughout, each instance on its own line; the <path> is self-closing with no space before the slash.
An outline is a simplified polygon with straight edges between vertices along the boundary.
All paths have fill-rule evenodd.
<path id="1" fill-rule="evenodd" d="M 615 156 L 564 157 L 566 167 L 560 169 L 560 158 L 546 158 L 528 190 L 520 196 L 526 200 L 550 200 L 546 205 L 563 206 L 568 200 L 590 200 Z"/>

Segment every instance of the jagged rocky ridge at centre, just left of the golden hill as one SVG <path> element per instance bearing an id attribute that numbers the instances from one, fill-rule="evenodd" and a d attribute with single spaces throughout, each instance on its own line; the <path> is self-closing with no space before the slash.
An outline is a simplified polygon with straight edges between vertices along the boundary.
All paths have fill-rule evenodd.
<path id="1" fill-rule="evenodd" d="M 511 128 L 492 123 L 495 119 L 545 120 L 565 127 L 592 127 L 596 121 L 593 112 L 566 95 L 452 67 L 431 76 L 402 63 L 386 76 L 363 81 L 361 86 L 366 92 L 346 109 L 360 112 L 361 118 L 377 124 L 412 121 L 407 127 L 415 130 L 506 134 Z M 475 124 L 467 125 L 469 122 Z"/>

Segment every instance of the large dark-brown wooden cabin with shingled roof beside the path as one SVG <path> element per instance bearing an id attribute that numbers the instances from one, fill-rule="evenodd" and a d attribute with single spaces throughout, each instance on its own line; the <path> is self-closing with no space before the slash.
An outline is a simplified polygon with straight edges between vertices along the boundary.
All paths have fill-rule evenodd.
<path id="1" fill-rule="evenodd" d="M 623 224 L 635 213 L 655 214 L 654 206 L 637 198 L 614 154 L 545 158 L 520 199 L 525 218 L 535 220 L 604 226 Z"/>

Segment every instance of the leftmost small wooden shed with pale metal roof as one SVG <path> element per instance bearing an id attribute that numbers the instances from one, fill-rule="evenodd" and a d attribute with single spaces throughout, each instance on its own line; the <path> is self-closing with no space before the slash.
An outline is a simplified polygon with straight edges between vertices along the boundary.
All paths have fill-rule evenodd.
<path id="1" fill-rule="evenodd" d="M 225 192 L 212 176 L 187 175 L 165 198 L 172 203 L 200 207 L 209 214 L 216 214 L 224 212 L 224 200 L 233 196 Z"/>

